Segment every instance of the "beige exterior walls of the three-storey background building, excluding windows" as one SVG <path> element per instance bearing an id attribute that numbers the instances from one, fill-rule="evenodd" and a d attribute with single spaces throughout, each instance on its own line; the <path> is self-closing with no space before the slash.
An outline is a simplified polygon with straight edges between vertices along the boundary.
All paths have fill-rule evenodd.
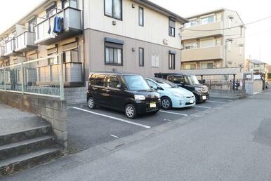
<path id="1" fill-rule="evenodd" d="M 214 15 L 215 22 L 200 25 L 201 18 L 209 15 Z M 239 18 L 236 11 L 221 10 L 214 13 L 192 17 L 190 20 L 197 20 L 198 25 L 195 27 L 185 27 L 185 29 L 192 29 L 195 31 L 183 30 L 182 32 L 182 43 L 184 47 L 181 57 L 182 63 L 194 62 L 197 64 L 197 69 L 201 68 L 201 62 L 206 62 L 209 60 L 216 62 L 214 64 L 215 67 L 244 66 L 245 29 L 242 28 L 241 30 L 240 27 L 237 27 L 239 25 L 243 25 L 243 22 Z M 199 31 L 209 29 L 220 30 Z M 201 47 L 200 42 L 204 39 L 213 39 L 213 46 L 207 48 Z M 185 45 L 190 42 L 197 43 L 197 48 L 186 50 Z M 181 67 L 182 69 L 185 68 L 185 66 Z"/>

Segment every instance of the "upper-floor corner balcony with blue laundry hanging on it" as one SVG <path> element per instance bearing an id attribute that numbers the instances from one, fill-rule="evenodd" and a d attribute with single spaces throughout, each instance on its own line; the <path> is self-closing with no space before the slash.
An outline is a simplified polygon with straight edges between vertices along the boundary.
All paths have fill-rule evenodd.
<path id="1" fill-rule="evenodd" d="M 56 15 L 63 18 L 63 31 L 60 34 L 53 33 L 53 23 Z M 81 34 L 81 10 L 67 7 L 55 15 L 52 15 L 50 18 L 39 22 L 35 28 L 36 41 L 34 41 L 34 43 L 41 45 L 49 45 L 62 39 Z"/>

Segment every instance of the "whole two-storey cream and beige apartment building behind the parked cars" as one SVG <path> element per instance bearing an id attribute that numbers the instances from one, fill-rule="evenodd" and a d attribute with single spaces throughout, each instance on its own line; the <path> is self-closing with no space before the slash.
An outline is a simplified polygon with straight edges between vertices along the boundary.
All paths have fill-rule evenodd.
<path id="1" fill-rule="evenodd" d="M 147 0 L 48 0 L 0 34 L 0 66 L 63 53 L 66 87 L 86 86 L 92 71 L 178 72 L 185 22 Z M 58 78 L 58 64 L 39 65 L 39 85 Z"/>

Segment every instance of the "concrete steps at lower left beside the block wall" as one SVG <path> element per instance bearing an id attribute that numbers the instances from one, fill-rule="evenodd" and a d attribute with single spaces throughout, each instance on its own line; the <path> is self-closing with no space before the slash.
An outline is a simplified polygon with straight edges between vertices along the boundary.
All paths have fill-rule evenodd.
<path id="1" fill-rule="evenodd" d="M 0 177 L 61 156 L 51 125 L 40 123 L 0 135 Z"/>

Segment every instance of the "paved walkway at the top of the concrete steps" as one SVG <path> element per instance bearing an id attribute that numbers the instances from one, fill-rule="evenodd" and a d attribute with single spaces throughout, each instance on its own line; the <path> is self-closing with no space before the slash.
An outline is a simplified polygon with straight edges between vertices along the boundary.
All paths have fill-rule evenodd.
<path id="1" fill-rule="evenodd" d="M 7 135 L 46 124 L 39 116 L 0 103 L 0 135 Z"/>

